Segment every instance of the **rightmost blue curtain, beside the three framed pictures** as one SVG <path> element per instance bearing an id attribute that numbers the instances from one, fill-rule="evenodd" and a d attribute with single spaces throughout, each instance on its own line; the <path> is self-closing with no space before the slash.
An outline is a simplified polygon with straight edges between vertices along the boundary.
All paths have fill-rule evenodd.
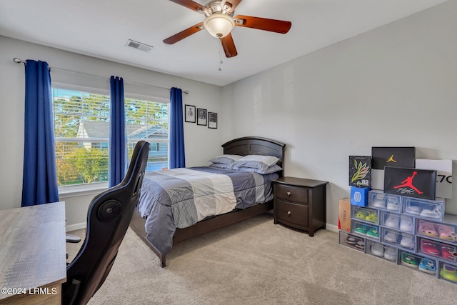
<path id="1" fill-rule="evenodd" d="M 183 92 L 171 88 L 170 93 L 170 168 L 186 167 L 184 157 L 184 126 L 183 126 Z"/>

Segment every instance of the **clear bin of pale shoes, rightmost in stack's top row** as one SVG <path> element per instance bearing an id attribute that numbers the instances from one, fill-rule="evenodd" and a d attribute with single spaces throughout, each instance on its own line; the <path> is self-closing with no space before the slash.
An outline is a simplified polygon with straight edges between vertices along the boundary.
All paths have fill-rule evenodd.
<path id="1" fill-rule="evenodd" d="M 418 218 L 443 221 L 444 199 L 427 200 L 413 197 L 403 197 L 402 211 L 404 214 Z"/>

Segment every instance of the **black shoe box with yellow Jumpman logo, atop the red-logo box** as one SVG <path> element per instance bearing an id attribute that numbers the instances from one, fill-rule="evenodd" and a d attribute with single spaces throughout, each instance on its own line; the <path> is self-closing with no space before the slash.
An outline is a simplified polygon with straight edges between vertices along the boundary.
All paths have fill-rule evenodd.
<path id="1" fill-rule="evenodd" d="M 371 167 L 384 169 L 384 166 L 416 167 L 416 148 L 371 147 Z"/>

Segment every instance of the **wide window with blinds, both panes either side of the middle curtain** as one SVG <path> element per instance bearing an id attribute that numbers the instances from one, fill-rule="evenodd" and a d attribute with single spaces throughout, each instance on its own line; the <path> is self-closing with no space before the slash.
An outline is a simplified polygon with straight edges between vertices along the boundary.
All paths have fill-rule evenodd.
<path id="1" fill-rule="evenodd" d="M 52 101 L 59 186 L 108 181 L 109 94 L 53 88 Z M 129 158 L 143 139 L 151 143 L 146 171 L 168 167 L 168 104 L 126 97 L 125 105 Z"/>

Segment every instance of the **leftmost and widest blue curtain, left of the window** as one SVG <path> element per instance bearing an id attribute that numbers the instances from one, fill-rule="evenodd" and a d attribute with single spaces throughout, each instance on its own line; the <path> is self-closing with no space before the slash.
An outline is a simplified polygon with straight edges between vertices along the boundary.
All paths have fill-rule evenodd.
<path id="1" fill-rule="evenodd" d="M 26 61 L 24 171 L 21 206 L 59 201 L 51 104 L 45 61 Z"/>

